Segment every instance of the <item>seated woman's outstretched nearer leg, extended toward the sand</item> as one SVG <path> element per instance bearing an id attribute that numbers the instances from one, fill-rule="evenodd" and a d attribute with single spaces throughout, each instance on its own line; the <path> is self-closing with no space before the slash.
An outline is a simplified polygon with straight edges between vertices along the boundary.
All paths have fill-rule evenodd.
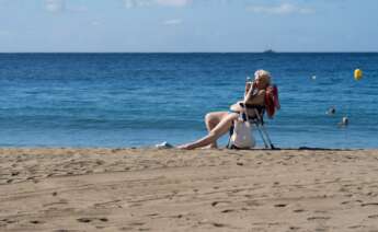
<path id="1" fill-rule="evenodd" d="M 238 114 L 231 113 L 225 116 L 219 124 L 216 125 L 216 127 L 205 137 L 198 139 L 195 142 L 191 142 L 187 144 L 179 146 L 180 149 L 196 149 L 196 148 L 202 148 L 208 144 L 214 143 L 217 141 L 219 137 L 225 135 L 230 127 L 232 126 L 232 121 L 238 118 Z"/>

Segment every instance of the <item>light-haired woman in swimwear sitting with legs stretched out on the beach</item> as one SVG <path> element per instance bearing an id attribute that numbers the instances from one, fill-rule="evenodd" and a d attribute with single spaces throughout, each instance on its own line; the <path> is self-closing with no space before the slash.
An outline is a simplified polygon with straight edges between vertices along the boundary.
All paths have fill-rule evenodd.
<path id="1" fill-rule="evenodd" d="M 206 115 L 205 124 L 208 135 L 197 141 L 179 146 L 180 149 L 196 149 L 209 146 L 217 148 L 217 139 L 229 131 L 233 120 L 238 119 L 239 114 L 244 109 L 240 103 L 251 105 L 264 105 L 266 88 L 271 84 L 271 74 L 265 70 L 257 70 L 254 73 L 254 81 L 245 83 L 244 100 L 230 106 L 231 112 L 213 112 Z M 254 112 L 247 112 L 252 116 Z"/>

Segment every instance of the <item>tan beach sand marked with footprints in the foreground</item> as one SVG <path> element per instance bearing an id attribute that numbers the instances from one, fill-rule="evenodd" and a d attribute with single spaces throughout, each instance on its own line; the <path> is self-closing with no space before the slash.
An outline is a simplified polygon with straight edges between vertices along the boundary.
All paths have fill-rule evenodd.
<path id="1" fill-rule="evenodd" d="M 0 149 L 0 231 L 378 231 L 378 150 Z"/>

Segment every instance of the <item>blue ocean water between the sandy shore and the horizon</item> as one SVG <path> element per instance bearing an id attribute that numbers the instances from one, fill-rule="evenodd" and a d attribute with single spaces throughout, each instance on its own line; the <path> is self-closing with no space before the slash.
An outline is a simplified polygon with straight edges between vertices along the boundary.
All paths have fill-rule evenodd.
<path id="1" fill-rule="evenodd" d="M 378 148 L 377 63 L 378 54 L 347 53 L 0 54 L 0 146 L 192 141 L 206 135 L 207 112 L 227 111 L 245 77 L 266 69 L 280 92 L 282 111 L 266 119 L 276 147 Z"/>

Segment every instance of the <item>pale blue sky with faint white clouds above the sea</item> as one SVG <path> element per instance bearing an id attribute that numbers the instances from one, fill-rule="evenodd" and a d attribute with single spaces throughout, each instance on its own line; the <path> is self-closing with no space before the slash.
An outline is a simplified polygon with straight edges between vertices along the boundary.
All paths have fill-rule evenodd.
<path id="1" fill-rule="evenodd" d="M 378 51 L 378 0 L 0 0 L 0 53 Z"/>

